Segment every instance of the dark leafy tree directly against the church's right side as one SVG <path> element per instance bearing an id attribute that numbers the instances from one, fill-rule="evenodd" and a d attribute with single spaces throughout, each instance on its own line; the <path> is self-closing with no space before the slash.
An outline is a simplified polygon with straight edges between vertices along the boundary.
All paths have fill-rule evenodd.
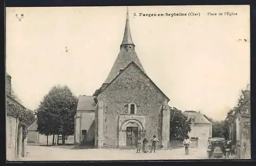
<path id="1" fill-rule="evenodd" d="M 181 110 L 172 108 L 170 110 L 170 140 L 183 140 L 190 128 L 191 120 Z"/>

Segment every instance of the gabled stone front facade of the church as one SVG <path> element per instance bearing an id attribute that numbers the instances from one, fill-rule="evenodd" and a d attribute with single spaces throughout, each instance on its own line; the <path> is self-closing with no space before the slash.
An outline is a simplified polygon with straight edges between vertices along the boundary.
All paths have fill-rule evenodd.
<path id="1" fill-rule="evenodd" d="M 160 138 L 159 145 L 168 146 L 170 113 L 163 105 L 167 105 L 169 99 L 135 63 L 129 64 L 97 99 L 100 103 L 98 147 L 125 147 L 126 127 L 132 126 L 138 127 L 139 137 L 150 139 L 156 135 Z M 131 103 L 135 105 L 136 114 L 130 114 Z"/>

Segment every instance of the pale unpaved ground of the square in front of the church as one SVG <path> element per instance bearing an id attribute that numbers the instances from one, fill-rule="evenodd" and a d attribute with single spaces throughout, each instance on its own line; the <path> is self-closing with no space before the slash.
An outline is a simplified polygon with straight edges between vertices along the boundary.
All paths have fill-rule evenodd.
<path id="1" fill-rule="evenodd" d="M 28 146 L 28 154 L 22 161 L 49 160 L 165 160 L 165 159 L 207 159 L 205 148 L 156 150 L 156 153 L 136 153 L 136 150 L 119 149 L 65 149 L 61 147 Z"/>

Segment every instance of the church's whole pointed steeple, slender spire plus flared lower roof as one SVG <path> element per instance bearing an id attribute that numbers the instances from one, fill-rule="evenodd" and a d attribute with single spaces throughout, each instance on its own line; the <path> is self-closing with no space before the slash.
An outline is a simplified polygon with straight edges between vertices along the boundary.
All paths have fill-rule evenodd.
<path id="1" fill-rule="evenodd" d="M 134 62 L 142 71 L 144 71 L 134 48 L 135 48 L 135 45 L 132 40 L 132 35 L 130 30 L 130 21 L 129 21 L 129 11 L 127 8 L 124 35 L 123 35 L 122 44 L 120 45 L 120 52 L 116 58 L 114 65 L 112 66 L 112 69 L 108 77 L 106 77 L 106 80 L 104 81 L 103 85 L 109 84 L 118 75 L 118 73 L 122 69 L 124 69 L 127 65 L 129 65 L 131 62 Z"/>

